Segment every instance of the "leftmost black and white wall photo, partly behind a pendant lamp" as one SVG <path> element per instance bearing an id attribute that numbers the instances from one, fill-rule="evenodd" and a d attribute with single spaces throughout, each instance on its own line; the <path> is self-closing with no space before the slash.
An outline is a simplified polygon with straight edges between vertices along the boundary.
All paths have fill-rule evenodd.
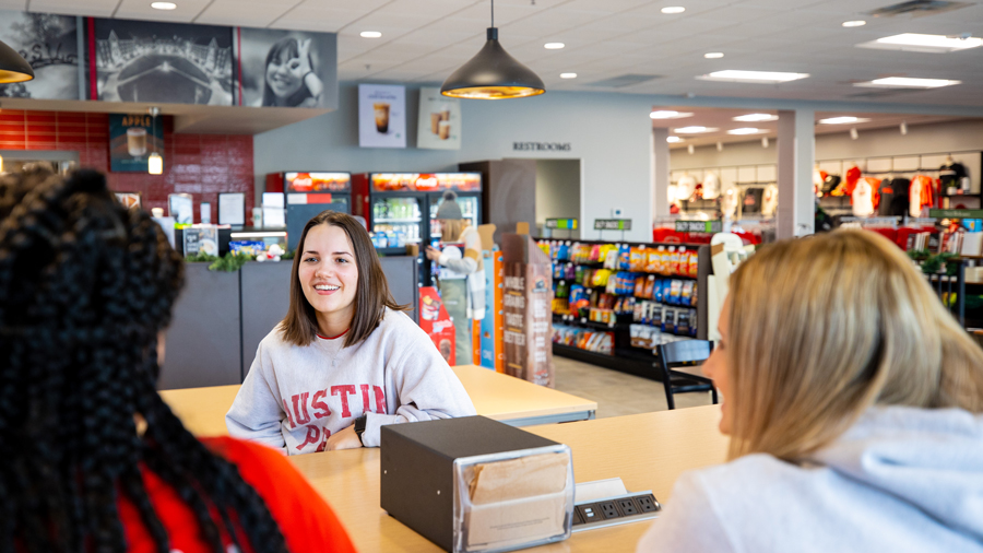
<path id="1" fill-rule="evenodd" d="M 0 10 L 0 40 L 34 69 L 34 80 L 0 84 L 0 97 L 79 99 L 79 42 L 74 15 Z"/>

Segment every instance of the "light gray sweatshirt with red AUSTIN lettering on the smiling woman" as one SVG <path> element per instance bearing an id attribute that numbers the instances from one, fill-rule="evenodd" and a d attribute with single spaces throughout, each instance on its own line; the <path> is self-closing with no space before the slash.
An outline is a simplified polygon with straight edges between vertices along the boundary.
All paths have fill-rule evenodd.
<path id="1" fill-rule="evenodd" d="M 273 329 L 225 415 L 228 433 L 297 455 L 323 450 L 363 413 L 367 447 L 379 445 L 383 424 L 475 414 L 457 375 L 405 314 L 387 308 L 365 341 L 344 341 L 318 338 L 300 348 Z"/>

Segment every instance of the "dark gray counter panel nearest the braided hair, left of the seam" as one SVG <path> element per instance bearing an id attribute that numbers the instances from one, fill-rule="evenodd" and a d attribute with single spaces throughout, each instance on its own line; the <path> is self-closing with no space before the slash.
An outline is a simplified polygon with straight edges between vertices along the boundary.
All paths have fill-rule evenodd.
<path id="1" fill-rule="evenodd" d="M 208 263 L 187 263 L 157 388 L 241 383 L 239 333 L 239 274 L 210 271 Z"/>

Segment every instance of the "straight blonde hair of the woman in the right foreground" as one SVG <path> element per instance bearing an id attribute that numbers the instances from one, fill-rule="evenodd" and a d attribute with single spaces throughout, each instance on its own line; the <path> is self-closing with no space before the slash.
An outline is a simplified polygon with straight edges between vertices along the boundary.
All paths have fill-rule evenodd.
<path id="1" fill-rule="evenodd" d="M 729 301 L 732 459 L 806 459 L 872 405 L 983 412 L 983 351 L 876 233 L 767 246 Z"/>

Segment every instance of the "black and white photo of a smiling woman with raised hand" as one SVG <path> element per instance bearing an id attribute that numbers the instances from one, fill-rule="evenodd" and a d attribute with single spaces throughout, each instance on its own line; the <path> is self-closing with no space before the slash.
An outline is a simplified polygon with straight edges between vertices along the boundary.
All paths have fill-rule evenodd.
<path id="1" fill-rule="evenodd" d="M 239 105 L 319 108 L 337 105 L 334 33 L 241 27 L 237 43 L 241 71 Z"/>

